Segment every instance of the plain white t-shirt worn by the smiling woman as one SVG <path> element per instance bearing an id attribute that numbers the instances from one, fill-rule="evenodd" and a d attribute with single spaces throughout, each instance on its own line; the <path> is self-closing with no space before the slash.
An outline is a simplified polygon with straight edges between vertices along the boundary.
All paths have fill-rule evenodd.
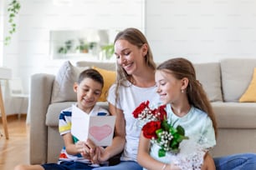
<path id="1" fill-rule="evenodd" d="M 150 104 L 160 101 L 159 95 L 156 93 L 156 87 L 136 87 L 131 82 L 126 82 L 127 87 L 119 87 L 119 100 L 116 107 L 124 112 L 125 116 L 125 149 L 121 160 L 137 160 L 138 144 L 141 134 L 141 128 L 136 127 L 137 119 L 133 117 L 132 112 L 138 107 L 141 102 L 147 100 Z M 115 84 L 110 87 L 108 102 L 115 106 Z"/>

